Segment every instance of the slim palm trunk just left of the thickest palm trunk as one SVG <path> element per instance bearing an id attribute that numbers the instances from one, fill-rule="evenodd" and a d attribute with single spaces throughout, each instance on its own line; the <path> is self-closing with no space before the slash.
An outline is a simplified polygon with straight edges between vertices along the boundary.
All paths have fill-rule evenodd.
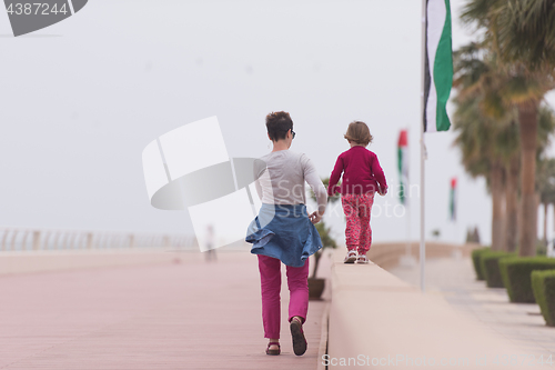
<path id="1" fill-rule="evenodd" d="M 505 189 L 505 250 L 515 252 L 518 242 L 518 157 L 513 158 L 507 169 L 507 183 Z"/>

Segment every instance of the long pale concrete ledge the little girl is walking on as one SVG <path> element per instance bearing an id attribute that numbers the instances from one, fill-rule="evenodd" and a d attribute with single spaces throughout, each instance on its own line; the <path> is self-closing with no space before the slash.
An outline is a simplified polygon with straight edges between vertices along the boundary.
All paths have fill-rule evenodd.
<path id="1" fill-rule="evenodd" d="M 515 354 L 518 364 L 511 368 L 525 368 L 526 351 L 441 296 L 422 293 L 377 264 L 344 264 L 344 254 L 333 254 L 330 369 L 494 369 Z"/>

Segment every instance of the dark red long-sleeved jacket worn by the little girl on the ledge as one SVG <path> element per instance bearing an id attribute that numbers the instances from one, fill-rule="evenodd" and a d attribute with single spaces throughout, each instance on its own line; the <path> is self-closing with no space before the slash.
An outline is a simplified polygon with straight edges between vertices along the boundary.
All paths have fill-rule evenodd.
<path id="1" fill-rule="evenodd" d="M 343 181 L 341 186 L 337 186 L 341 173 L 343 173 Z M 355 146 L 337 157 L 327 187 L 330 197 L 335 192 L 361 194 L 372 191 L 385 192 L 386 190 L 385 174 L 374 152 L 364 147 Z"/>

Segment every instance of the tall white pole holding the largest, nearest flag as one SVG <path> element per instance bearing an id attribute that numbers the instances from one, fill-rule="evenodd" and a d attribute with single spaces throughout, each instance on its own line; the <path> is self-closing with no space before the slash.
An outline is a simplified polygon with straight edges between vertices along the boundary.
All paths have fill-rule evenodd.
<path id="1" fill-rule="evenodd" d="M 421 116 L 420 116 L 420 287 L 425 291 L 425 264 L 426 264 L 426 243 L 425 243 L 425 209 L 424 209 L 424 186 L 425 186 L 425 151 L 424 143 L 424 64 L 426 62 L 426 6 L 427 0 L 422 0 L 422 64 L 421 64 Z"/>

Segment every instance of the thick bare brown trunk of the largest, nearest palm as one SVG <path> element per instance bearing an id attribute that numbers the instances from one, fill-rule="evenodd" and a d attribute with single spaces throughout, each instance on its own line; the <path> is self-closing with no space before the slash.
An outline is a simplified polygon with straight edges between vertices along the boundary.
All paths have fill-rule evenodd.
<path id="1" fill-rule="evenodd" d="M 537 144 L 537 103 L 519 104 L 518 120 L 521 131 L 521 216 L 522 232 L 518 238 L 518 254 L 535 256 L 537 240 L 536 144 Z"/>

